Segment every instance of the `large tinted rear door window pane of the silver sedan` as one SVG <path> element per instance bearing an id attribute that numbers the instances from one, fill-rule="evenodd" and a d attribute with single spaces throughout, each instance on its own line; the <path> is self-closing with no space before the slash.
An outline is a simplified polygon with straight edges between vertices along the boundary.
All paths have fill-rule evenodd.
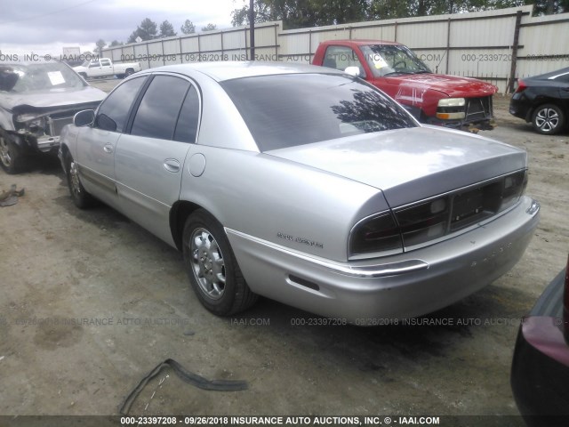
<path id="1" fill-rule="evenodd" d="M 132 123 L 132 135 L 172 140 L 189 82 L 179 77 L 156 76 L 148 85 Z"/>

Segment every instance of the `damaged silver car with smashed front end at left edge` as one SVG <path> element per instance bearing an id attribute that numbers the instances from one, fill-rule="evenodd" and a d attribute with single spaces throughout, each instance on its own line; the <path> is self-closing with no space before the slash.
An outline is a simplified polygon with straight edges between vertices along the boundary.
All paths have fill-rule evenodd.
<path id="1" fill-rule="evenodd" d="M 0 164 L 18 173 L 27 158 L 57 154 L 60 132 L 76 112 L 97 108 L 106 93 L 56 61 L 0 62 Z"/>

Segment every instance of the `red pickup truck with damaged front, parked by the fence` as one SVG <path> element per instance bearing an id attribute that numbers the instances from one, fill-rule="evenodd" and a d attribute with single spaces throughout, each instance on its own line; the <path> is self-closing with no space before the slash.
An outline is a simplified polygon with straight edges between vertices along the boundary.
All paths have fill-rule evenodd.
<path id="1" fill-rule="evenodd" d="M 329 40 L 318 45 L 312 64 L 365 79 L 422 123 L 464 130 L 493 128 L 496 86 L 476 78 L 434 74 L 404 44 Z"/>

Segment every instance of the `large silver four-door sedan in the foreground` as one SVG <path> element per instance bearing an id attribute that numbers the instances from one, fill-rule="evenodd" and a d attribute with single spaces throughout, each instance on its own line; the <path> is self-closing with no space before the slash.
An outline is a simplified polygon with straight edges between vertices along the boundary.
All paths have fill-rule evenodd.
<path id="1" fill-rule="evenodd" d="M 321 67 L 142 71 L 76 115 L 60 160 L 78 207 L 177 247 L 224 316 L 257 295 L 357 325 L 420 316 L 511 269 L 539 221 L 525 151 Z"/>

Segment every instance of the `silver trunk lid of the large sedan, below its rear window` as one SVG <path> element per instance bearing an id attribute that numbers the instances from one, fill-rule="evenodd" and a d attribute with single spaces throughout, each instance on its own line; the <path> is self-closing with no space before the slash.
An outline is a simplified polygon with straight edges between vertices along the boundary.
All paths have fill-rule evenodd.
<path id="1" fill-rule="evenodd" d="M 434 126 L 366 133 L 265 154 L 381 189 L 391 207 L 526 167 L 522 149 Z"/>

